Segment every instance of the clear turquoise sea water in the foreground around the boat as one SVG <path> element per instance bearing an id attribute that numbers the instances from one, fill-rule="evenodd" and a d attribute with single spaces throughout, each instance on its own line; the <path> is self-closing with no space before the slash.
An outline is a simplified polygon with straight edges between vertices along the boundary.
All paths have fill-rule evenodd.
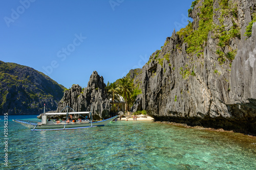
<path id="1" fill-rule="evenodd" d="M 256 169 L 256 138 L 239 133 L 139 121 L 31 132 L 11 121 L 35 117 L 9 116 L 8 169 Z"/>

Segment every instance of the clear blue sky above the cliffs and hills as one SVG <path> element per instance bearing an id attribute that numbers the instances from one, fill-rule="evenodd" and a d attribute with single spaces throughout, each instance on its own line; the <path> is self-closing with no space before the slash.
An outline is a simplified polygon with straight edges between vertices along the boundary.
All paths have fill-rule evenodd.
<path id="1" fill-rule="evenodd" d="M 187 24 L 192 0 L 3 0 L 0 60 L 44 72 L 69 88 L 94 70 L 114 82 L 141 68 Z"/>

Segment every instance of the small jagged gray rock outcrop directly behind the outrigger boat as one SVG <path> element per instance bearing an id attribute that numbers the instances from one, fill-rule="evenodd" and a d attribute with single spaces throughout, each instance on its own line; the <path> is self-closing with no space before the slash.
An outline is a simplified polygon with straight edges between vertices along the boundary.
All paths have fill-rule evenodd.
<path id="1" fill-rule="evenodd" d="M 58 103 L 57 112 L 61 112 L 67 105 L 75 111 L 91 111 L 101 118 L 109 116 L 110 102 L 105 90 L 103 77 L 97 71 L 93 71 L 87 88 L 74 84 L 66 90 L 63 98 Z M 66 110 L 65 110 L 66 111 Z"/>

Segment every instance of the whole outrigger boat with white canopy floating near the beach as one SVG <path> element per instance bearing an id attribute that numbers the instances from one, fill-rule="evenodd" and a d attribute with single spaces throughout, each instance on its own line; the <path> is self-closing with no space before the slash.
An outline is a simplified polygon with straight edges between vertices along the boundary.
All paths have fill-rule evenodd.
<path id="1" fill-rule="evenodd" d="M 72 122 L 68 120 L 68 116 L 72 114 L 89 114 L 91 119 L 84 119 L 84 120 L 76 120 L 76 122 Z M 47 116 L 48 115 L 67 115 L 65 121 L 48 121 Z M 49 131 L 49 130 L 70 130 L 70 129 L 83 129 L 83 128 L 92 128 L 92 127 L 98 127 L 98 126 L 105 126 L 106 124 L 110 123 L 112 120 L 117 118 L 118 115 L 101 120 L 98 122 L 94 122 L 92 119 L 92 112 L 68 112 L 68 106 L 67 106 L 67 112 L 64 113 L 44 113 L 42 115 L 41 122 L 33 122 L 30 120 L 20 120 L 15 119 L 14 122 L 21 124 L 27 128 L 31 128 L 31 131 Z"/>

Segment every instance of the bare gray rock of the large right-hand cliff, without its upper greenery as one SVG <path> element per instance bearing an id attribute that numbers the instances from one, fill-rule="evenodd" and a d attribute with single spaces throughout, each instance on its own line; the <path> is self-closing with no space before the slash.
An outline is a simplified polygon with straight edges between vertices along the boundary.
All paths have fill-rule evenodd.
<path id="1" fill-rule="evenodd" d="M 241 28 L 241 39 L 230 40 L 230 48 L 238 48 L 231 68 L 227 62 L 218 62 L 219 40 L 214 33 L 208 34 L 204 54 L 191 56 L 186 53 L 187 44 L 174 31 L 135 78 L 141 80 L 142 95 L 136 100 L 133 112 L 144 109 L 155 120 L 256 134 L 256 23 L 251 38 L 245 40 L 243 36 L 251 20 L 252 11 L 248 13 L 248 9 L 256 2 L 233 3 L 238 4 L 238 18 L 234 22 Z M 202 1 L 190 14 L 194 29 L 198 27 L 197 8 L 201 5 Z M 213 18 L 219 25 L 217 8 L 219 1 L 214 2 Z M 232 27 L 229 18 L 224 18 L 223 23 L 225 30 Z"/>

